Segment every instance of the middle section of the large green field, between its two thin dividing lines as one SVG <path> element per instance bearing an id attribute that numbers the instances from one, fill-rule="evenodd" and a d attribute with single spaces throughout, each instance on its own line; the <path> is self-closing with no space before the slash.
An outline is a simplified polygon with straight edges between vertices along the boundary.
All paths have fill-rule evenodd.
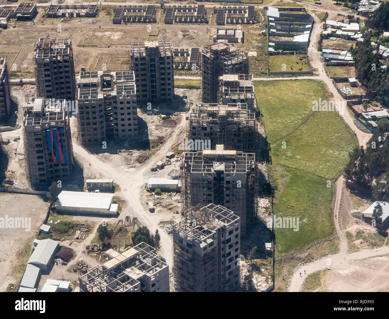
<path id="1" fill-rule="evenodd" d="M 333 180 L 348 162 L 355 139 L 335 112 L 312 113 L 292 135 L 273 146 L 273 163 Z"/>

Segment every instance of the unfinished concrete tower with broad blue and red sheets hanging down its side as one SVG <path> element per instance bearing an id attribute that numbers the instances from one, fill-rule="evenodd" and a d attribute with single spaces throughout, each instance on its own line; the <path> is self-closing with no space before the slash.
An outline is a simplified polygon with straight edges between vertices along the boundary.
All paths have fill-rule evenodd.
<path id="1" fill-rule="evenodd" d="M 23 143 L 32 185 L 68 180 L 74 169 L 66 100 L 33 98 L 23 106 Z"/>

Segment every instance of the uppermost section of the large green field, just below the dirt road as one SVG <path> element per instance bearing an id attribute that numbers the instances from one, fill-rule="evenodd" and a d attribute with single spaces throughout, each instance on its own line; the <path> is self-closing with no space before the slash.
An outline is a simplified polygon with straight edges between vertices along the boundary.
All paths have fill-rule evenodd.
<path id="1" fill-rule="evenodd" d="M 312 116 L 312 101 L 324 99 L 325 86 L 315 80 L 254 82 L 268 141 L 273 145 Z"/>

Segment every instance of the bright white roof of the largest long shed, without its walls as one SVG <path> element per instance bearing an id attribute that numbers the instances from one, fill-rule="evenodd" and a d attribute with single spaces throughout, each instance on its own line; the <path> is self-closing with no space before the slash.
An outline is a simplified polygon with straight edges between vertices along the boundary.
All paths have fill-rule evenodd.
<path id="1" fill-rule="evenodd" d="M 114 194 L 111 193 L 86 193 L 63 190 L 58 195 L 56 206 L 103 208 L 109 210 L 113 197 Z"/>

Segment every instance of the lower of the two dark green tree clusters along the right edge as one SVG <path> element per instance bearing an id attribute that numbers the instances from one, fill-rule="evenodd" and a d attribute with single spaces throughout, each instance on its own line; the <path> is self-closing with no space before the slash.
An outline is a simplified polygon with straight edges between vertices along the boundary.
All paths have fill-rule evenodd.
<path id="1" fill-rule="evenodd" d="M 375 200 L 389 199 L 389 120 L 378 121 L 366 148 L 350 152 L 350 161 L 345 168 L 345 177 L 361 187 L 372 186 Z M 375 182 L 375 183 L 373 183 Z"/>

